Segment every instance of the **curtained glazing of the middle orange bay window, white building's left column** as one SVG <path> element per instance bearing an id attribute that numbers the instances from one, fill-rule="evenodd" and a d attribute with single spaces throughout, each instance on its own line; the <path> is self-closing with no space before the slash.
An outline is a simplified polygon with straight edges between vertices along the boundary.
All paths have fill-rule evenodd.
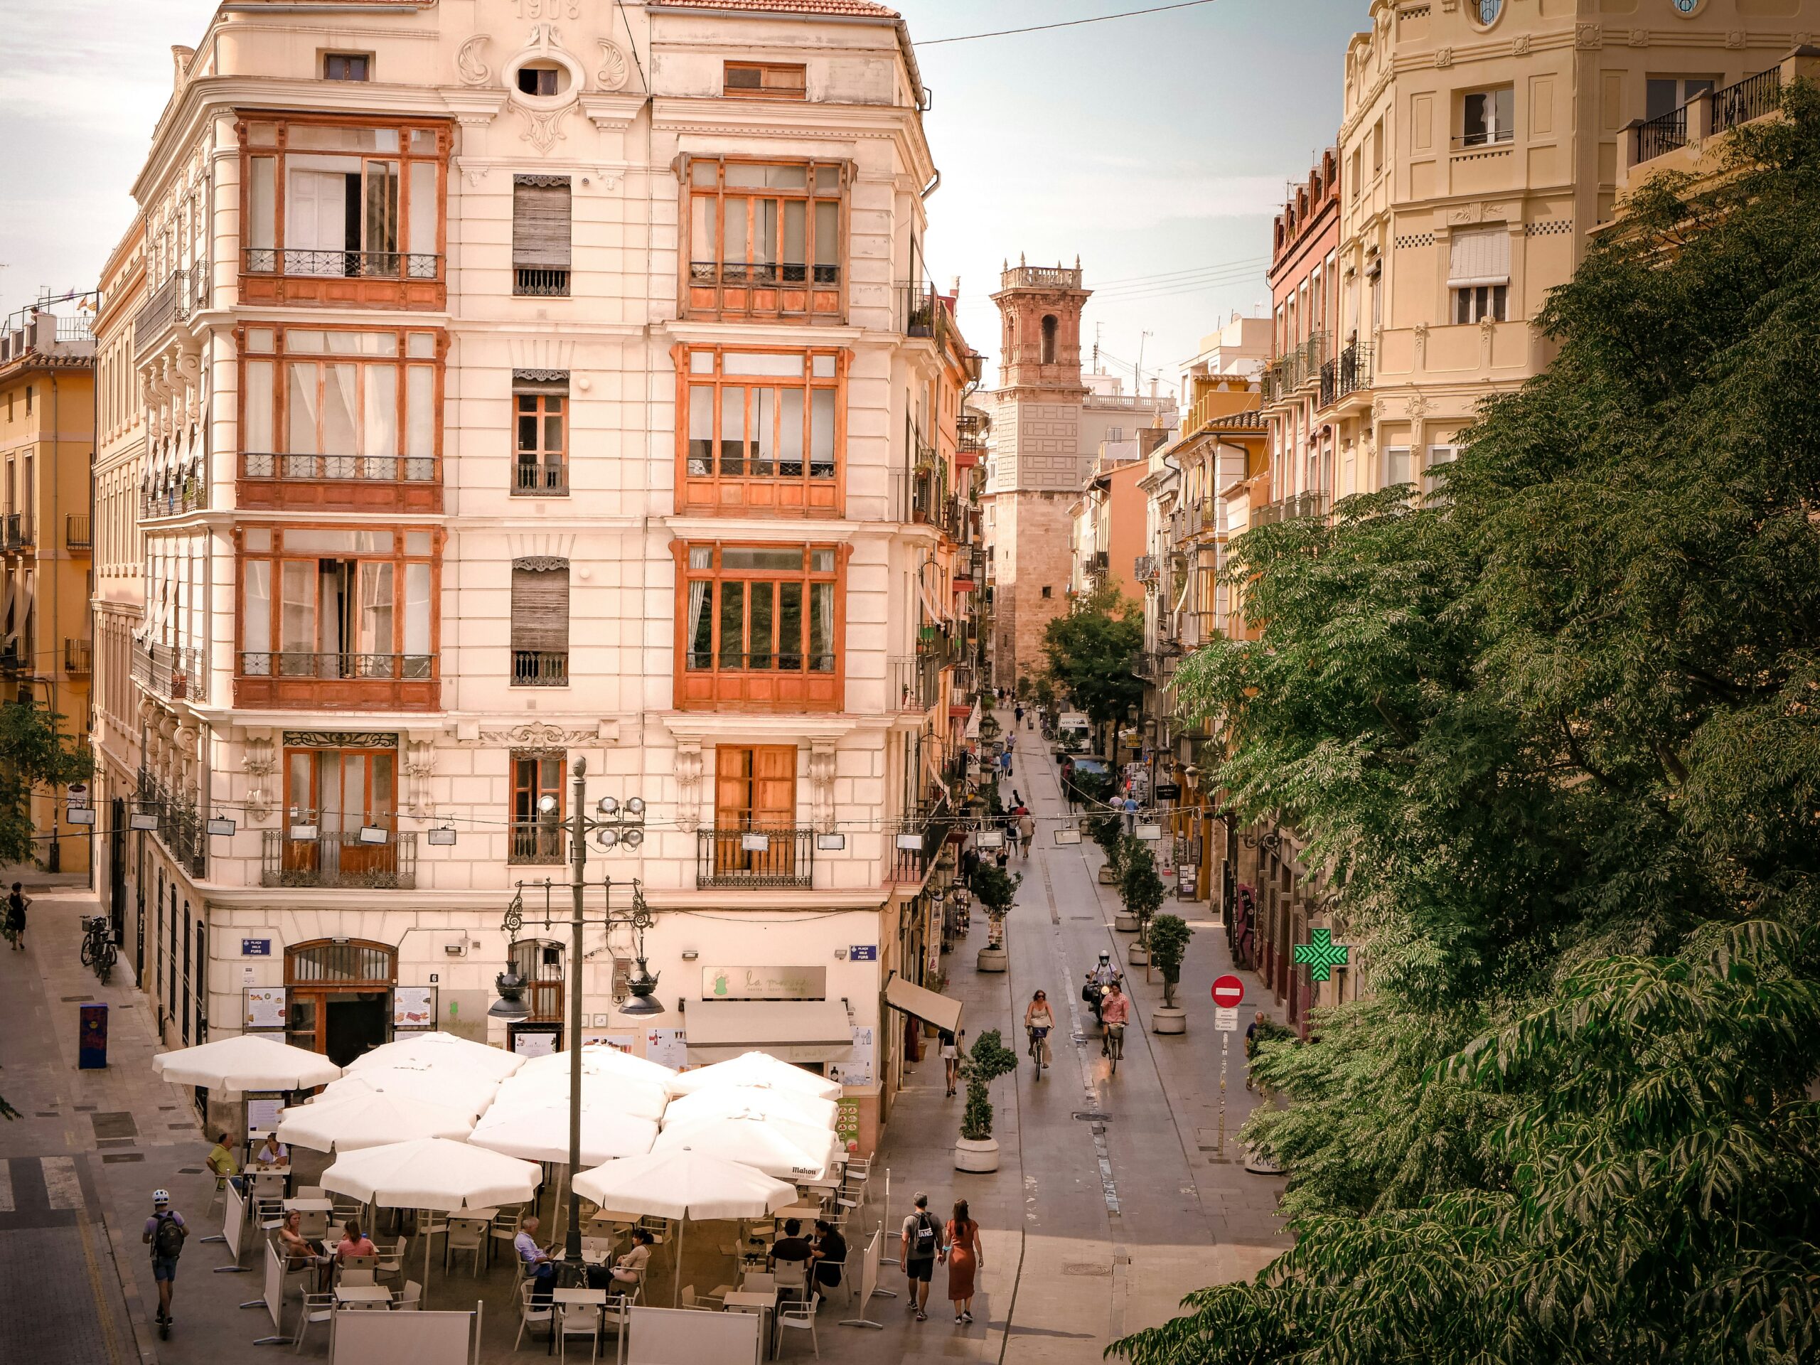
<path id="1" fill-rule="evenodd" d="M 253 326 L 240 349 L 244 480 L 439 480 L 440 333 Z"/>

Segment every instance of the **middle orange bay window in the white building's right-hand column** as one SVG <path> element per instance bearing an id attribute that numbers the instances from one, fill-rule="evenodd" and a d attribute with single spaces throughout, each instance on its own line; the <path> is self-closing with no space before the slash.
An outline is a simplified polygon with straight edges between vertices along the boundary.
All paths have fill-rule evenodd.
<path id="1" fill-rule="evenodd" d="M 839 351 L 684 351 L 682 506 L 835 515 L 843 375 Z"/>

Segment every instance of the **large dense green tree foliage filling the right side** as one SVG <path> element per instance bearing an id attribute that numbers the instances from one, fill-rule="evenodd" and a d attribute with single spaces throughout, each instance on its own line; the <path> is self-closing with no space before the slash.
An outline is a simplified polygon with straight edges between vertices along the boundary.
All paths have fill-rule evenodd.
<path id="1" fill-rule="evenodd" d="M 1784 113 L 1634 197 L 1420 506 L 1234 542 L 1261 637 L 1178 695 L 1374 996 L 1254 1063 L 1298 1249 L 1136 1358 L 1813 1354 L 1820 96 Z"/>

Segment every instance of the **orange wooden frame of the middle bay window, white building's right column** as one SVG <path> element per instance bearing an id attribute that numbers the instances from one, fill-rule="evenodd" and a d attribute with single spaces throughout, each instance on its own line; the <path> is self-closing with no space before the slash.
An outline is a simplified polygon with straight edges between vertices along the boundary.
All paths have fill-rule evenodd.
<path id="1" fill-rule="evenodd" d="M 672 351 L 677 369 L 677 511 L 713 511 L 726 515 L 788 515 L 788 517 L 839 517 L 846 508 L 846 373 L 852 351 L 834 348 L 797 349 L 788 346 L 675 346 Z M 803 377 L 777 375 L 728 375 L 726 359 L 730 355 L 799 355 L 803 357 Z M 712 357 L 712 373 L 690 373 L 695 357 Z M 834 359 L 834 375 L 815 375 L 817 359 Z M 692 435 L 692 395 L 690 389 L 706 388 L 712 391 L 712 440 L 708 460 L 690 460 Z M 723 389 L 746 389 L 746 422 L 753 420 L 757 402 L 753 389 L 803 389 L 803 459 L 797 460 L 801 473 L 723 473 L 721 453 L 724 415 Z M 817 479 L 812 473 L 810 420 L 814 415 L 815 391 L 834 393 L 834 475 Z M 783 402 L 774 402 L 772 450 L 779 450 L 777 439 L 783 433 Z M 750 462 L 746 462 L 750 468 Z M 770 460 L 783 466 L 784 460 Z"/>

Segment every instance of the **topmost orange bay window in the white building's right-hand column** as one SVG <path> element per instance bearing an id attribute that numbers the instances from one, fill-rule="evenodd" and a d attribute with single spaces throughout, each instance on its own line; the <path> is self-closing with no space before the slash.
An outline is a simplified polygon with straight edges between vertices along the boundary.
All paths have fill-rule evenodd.
<path id="1" fill-rule="evenodd" d="M 693 157 L 688 311 L 810 317 L 841 311 L 839 162 Z"/>

